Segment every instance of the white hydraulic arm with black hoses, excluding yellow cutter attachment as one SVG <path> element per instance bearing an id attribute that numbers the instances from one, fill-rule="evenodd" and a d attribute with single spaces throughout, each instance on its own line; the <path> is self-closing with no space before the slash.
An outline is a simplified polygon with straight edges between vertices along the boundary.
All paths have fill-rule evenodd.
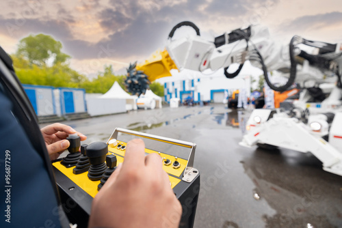
<path id="1" fill-rule="evenodd" d="M 328 44 L 294 36 L 289 44 L 280 45 L 270 38 L 267 27 L 261 25 L 236 29 L 209 42 L 200 38 L 199 29 L 193 23 L 180 24 L 194 27 L 198 35 L 172 40 L 175 28 L 180 26 L 176 25 L 172 29 L 166 50 L 179 70 L 224 68 L 226 77 L 232 79 L 239 74 L 244 61 L 249 60 L 253 66 L 263 70 L 267 85 L 275 91 L 286 91 L 293 83 L 297 83 L 304 89 L 300 99 L 303 103 L 319 96 L 321 102 L 325 100 L 325 97 L 322 98 L 324 94 L 331 94 L 333 97 L 326 102 L 330 106 L 341 105 L 342 69 L 339 66 L 342 66 L 342 43 Z M 233 74 L 227 72 L 231 63 L 240 64 Z M 267 73 L 271 71 L 276 71 L 276 76 Z M 287 82 L 281 85 L 284 79 Z M 327 83 L 332 85 L 336 82 L 337 87 L 326 86 Z M 323 89 L 306 89 L 308 86 L 317 88 L 317 85 L 322 85 Z"/>

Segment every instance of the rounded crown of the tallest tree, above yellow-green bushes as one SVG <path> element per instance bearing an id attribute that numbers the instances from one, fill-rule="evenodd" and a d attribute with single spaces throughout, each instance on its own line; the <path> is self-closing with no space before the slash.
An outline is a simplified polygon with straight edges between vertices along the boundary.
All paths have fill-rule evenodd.
<path id="1" fill-rule="evenodd" d="M 70 58 L 69 55 L 62 53 L 61 49 L 61 42 L 54 40 L 50 35 L 40 33 L 21 39 L 16 56 L 27 59 L 31 65 L 45 66 L 51 63 L 53 66 L 65 63 Z"/>

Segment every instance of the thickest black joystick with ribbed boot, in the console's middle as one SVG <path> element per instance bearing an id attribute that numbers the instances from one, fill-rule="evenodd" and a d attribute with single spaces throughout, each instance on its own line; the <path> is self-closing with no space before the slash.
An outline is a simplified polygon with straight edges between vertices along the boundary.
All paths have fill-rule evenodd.
<path id="1" fill-rule="evenodd" d="M 89 179 L 101 180 L 101 177 L 107 168 L 105 163 L 106 154 L 108 153 L 107 143 L 91 143 L 88 145 L 86 152 L 90 162 L 90 169 L 88 171 Z"/>

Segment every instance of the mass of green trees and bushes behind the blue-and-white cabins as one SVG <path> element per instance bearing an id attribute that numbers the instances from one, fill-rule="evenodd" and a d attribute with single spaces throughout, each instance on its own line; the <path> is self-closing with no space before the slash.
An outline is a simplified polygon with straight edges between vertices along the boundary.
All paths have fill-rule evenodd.
<path id="1" fill-rule="evenodd" d="M 126 76 L 114 75 L 112 66 L 104 66 L 96 79 L 70 68 L 66 61 L 70 57 L 61 52 L 62 44 L 49 35 L 29 35 L 23 38 L 16 54 L 12 55 L 14 69 L 19 80 L 29 85 L 84 88 L 87 93 L 105 94 L 115 81 L 124 89 Z"/>

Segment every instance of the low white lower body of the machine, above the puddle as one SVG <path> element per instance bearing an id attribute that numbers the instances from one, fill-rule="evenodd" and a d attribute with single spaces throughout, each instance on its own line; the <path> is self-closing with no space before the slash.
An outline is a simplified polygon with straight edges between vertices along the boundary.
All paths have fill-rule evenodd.
<path id="1" fill-rule="evenodd" d="M 321 160 L 325 171 L 342 175 L 342 113 L 334 114 L 330 130 L 328 118 L 323 114 L 311 115 L 307 124 L 284 112 L 274 113 L 272 118 L 270 114 L 271 110 L 254 110 L 247 122 L 248 133 L 239 144 L 311 152 Z"/>

